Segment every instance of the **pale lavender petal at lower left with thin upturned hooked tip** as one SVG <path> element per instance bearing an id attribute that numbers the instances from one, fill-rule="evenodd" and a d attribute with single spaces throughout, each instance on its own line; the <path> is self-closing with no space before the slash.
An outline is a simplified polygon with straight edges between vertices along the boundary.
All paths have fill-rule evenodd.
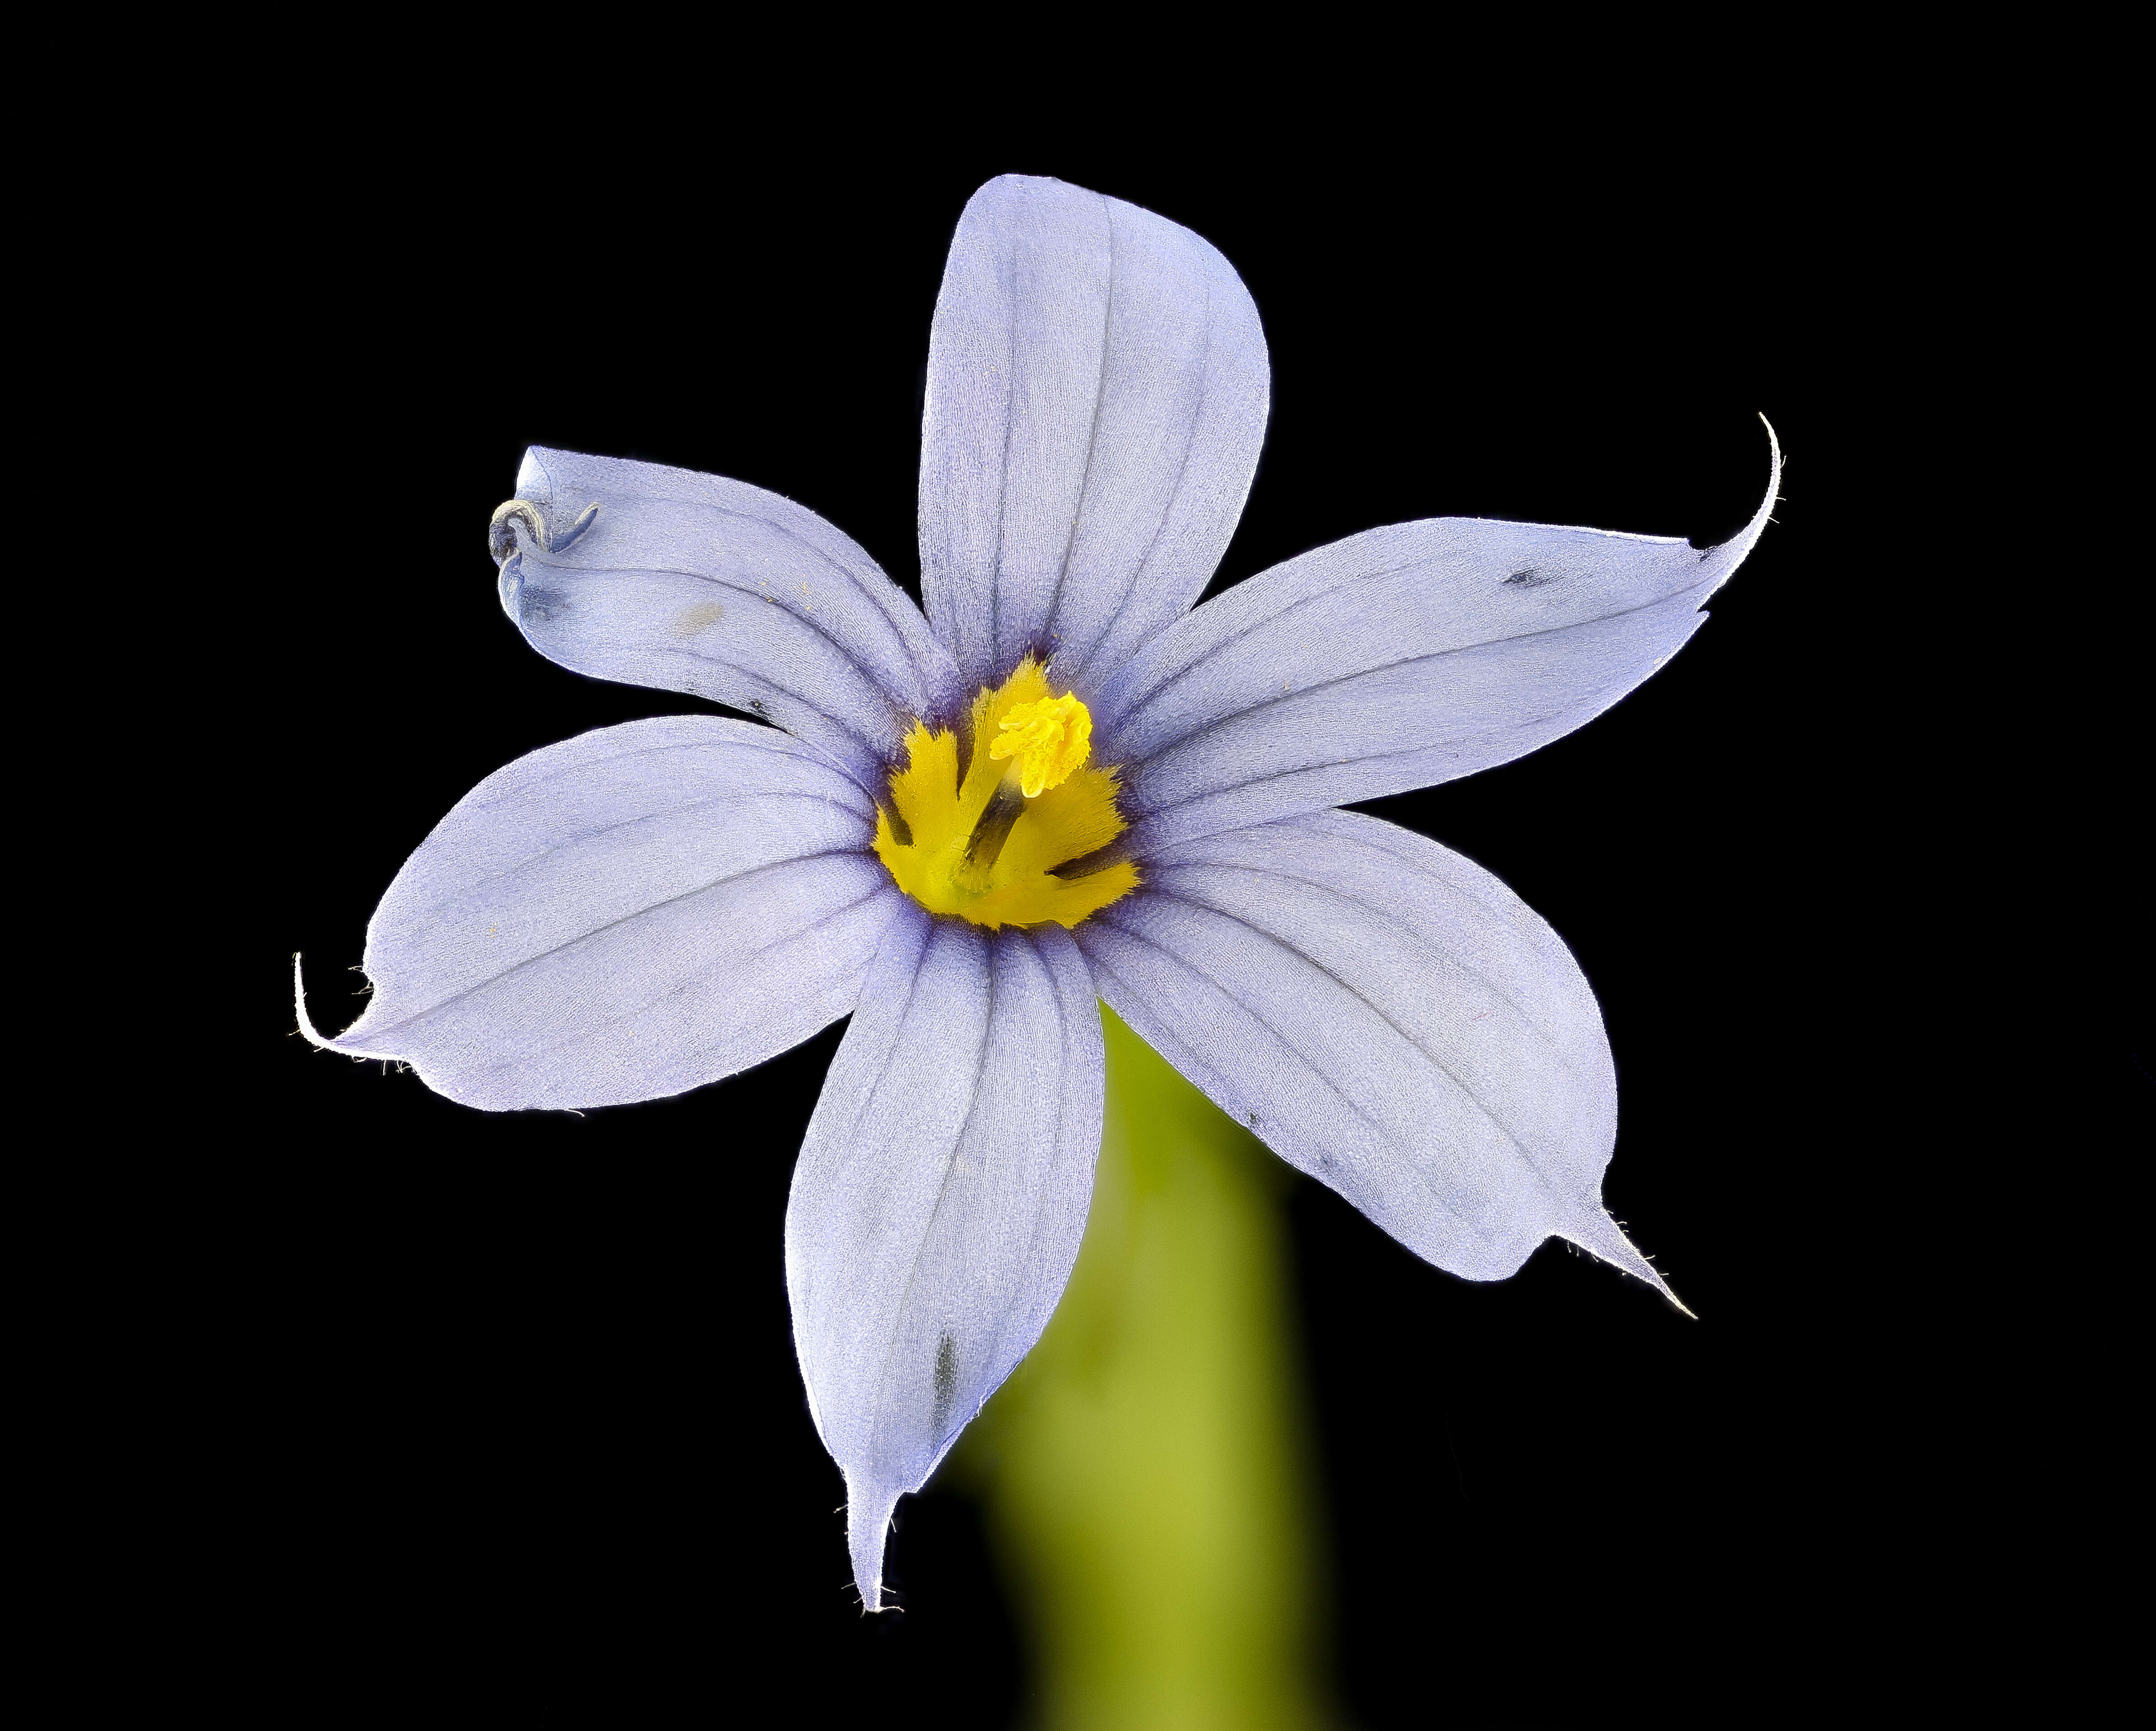
<path id="1" fill-rule="evenodd" d="M 319 1041 L 466 1106 L 716 1082 L 845 1015 L 903 897 L 873 806 L 798 739 L 673 716 L 520 757 L 405 860 L 367 1013 Z"/>

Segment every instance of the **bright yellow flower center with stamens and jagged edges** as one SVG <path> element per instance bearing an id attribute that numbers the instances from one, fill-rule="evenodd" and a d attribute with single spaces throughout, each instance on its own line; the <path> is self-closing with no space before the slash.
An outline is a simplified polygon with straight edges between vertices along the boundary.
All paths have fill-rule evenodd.
<path id="1" fill-rule="evenodd" d="M 1138 886 L 1121 860 L 1084 877 L 1056 867 L 1106 847 L 1128 828 L 1115 808 L 1115 770 L 1087 765 L 1093 718 L 1031 655 L 972 701 L 970 761 L 959 737 L 914 722 L 906 767 L 875 819 L 875 856 L 931 914 L 990 929 L 1078 925 Z M 981 750 L 981 744 L 987 750 Z"/>

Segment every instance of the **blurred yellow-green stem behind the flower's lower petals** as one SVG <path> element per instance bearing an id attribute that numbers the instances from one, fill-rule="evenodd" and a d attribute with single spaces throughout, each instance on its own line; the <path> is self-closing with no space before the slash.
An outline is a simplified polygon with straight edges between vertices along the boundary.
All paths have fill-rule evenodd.
<path id="1" fill-rule="evenodd" d="M 1330 1722 L 1281 1166 L 1102 1007 L 1108 1117 L 1063 1304 L 981 1416 L 1044 1731 Z"/>

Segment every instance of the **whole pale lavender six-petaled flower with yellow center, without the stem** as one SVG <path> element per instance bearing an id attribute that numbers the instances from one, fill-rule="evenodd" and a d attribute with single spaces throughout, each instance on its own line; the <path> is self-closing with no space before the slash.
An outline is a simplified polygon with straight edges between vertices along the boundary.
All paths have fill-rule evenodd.
<path id="1" fill-rule="evenodd" d="M 1097 998 L 1438 1268 L 1496 1280 L 1554 1233 L 1662 1287 L 1600 1201 L 1617 1086 L 1578 964 L 1488 871 L 1339 806 L 1617 703 L 1699 629 L 1772 479 L 1705 552 L 1440 517 L 1192 608 L 1268 392 L 1212 246 L 1007 177 L 966 205 L 929 334 L 925 617 L 785 498 L 530 451 L 492 526 L 530 645 L 770 726 L 511 763 L 375 910 L 367 1013 L 319 1039 L 302 1007 L 487 1110 L 681 1093 L 854 1017 L 787 1287 L 869 1608 L 897 1498 L 1069 1276 Z"/>

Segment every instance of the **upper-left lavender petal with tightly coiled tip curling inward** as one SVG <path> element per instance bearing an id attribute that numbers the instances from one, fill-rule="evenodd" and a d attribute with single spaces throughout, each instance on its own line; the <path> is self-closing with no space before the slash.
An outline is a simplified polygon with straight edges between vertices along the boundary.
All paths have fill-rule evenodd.
<path id="1" fill-rule="evenodd" d="M 869 554 L 716 474 L 524 453 L 494 513 L 502 610 L 548 660 L 763 716 L 877 787 L 957 670 Z"/>

